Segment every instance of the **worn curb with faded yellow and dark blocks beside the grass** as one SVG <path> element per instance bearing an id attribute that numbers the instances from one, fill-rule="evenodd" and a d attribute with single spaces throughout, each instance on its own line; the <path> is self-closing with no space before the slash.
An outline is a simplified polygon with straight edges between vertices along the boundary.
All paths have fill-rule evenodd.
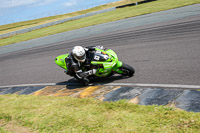
<path id="1" fill-rule="evenodd" d="M 166 105 L 185 111 L 200 112 L 200 91 L 182 88 L 96 85 L 17 86 L 0 88 L 0 95 L 92 97 L 102 101 L 127 99 L 139 105 Z"/>

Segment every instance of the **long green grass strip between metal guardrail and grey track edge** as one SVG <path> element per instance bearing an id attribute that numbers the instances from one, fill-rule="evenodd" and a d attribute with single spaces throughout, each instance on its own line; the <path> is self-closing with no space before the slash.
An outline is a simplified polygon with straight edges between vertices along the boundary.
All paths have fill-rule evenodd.
<path id="1" fill-rule="evenodd" d="M 38 37 L 48 36 L 60 32 L 70 31 L 74 29 L 79 29 L 87 26 L 102 24 L 110 21 L 116 21 L 120 19 L 125 19 L 133 16 L 139 16 L 143 14 L 168 10 L 172 8 L 182 7 L 186 5 L 191 5 L 195 3 L 200 3 L 200 0 L 157 0 L 155 2 L 146 3 L 133 7 L 126 7 L 122 9 L 117 9 L 115 11 L 90 16 L 82 18 L 79 20 L 69 21 L 63 24 L 54 25 L 46 27 L 43 29 L 31 31 L 24 34 L 15 35 L 12 37 L 0 39 L 0 46 L 13 44 L 21 41 L 26 41 Z"/>

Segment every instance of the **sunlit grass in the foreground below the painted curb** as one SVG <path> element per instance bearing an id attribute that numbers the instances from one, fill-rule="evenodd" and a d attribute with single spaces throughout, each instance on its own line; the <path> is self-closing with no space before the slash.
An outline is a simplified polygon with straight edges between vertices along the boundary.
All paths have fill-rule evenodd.
<path id="1" fill-rule="evenodd" d="M 200 113 L 166 106 L 135 105 L 125 100 L 102 102 L 53 96 L 1 95 L 0 121 L 4 121 L 4 125 L 14 122 L 37 132 L 200 131 Z"/>

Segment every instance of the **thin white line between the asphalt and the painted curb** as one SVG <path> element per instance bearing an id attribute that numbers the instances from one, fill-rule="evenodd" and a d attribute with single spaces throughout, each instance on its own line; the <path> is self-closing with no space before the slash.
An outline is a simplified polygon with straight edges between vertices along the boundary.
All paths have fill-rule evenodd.
<path id="1" fill-rule="evenodd" d="M 26 87 L 26 86 L 55 86 L 55 85 L 58 84 L 56 83 L 21 84 L 21 85 L 0 86 L 0 88 Z M 62 85 L 80 85 L 80 83 L 67 83 Z M 180 85 L 180 84 L 108 83 L 108 84 L 94 84 L 94 85 L 200 89 L 200 85 Z"/>

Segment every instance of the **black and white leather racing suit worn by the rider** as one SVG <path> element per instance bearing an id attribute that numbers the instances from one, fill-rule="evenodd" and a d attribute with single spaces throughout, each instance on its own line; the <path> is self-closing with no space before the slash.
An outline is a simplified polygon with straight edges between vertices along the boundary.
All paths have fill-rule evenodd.
<path id="1" fill-rule="evenodd" d="M 81 63 L 78 62 L 72 54 L 66 58 L 66 65 L 68 68 L 67 74 L 74 76 L 79 81 L 87 80 L 88 77 L 94 75 L 97 69 L 100 67 L 98 65 L 92 65 L 91 61 L 106 61 L 109 56 L 106 53 L 96 50 L 95 48 L 105 50 L 103 46 L 90 46 L 86 47 L 86 60 Z"/>

